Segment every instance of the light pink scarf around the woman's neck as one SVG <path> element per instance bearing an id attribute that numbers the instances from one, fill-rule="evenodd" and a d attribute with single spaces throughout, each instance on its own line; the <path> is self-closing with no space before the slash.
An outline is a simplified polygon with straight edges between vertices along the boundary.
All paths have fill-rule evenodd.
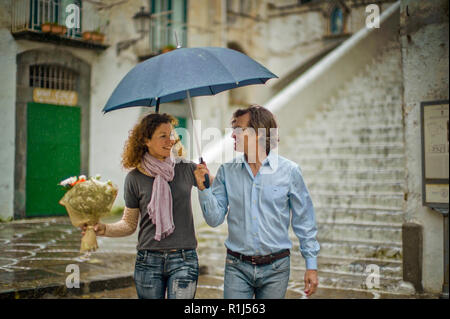
<path id="1" fill-rule="evenodd" d="M 155 177 L 152 198 L 147 206 L 150 220 L 156 225 L 155 240 L 160 241 L 173 233 L 172 192 L 169 183 L 175 175 L 175 162 L 167 157 L 164 162 L 148 152 L 142 158 L 141 167 Z"/>

